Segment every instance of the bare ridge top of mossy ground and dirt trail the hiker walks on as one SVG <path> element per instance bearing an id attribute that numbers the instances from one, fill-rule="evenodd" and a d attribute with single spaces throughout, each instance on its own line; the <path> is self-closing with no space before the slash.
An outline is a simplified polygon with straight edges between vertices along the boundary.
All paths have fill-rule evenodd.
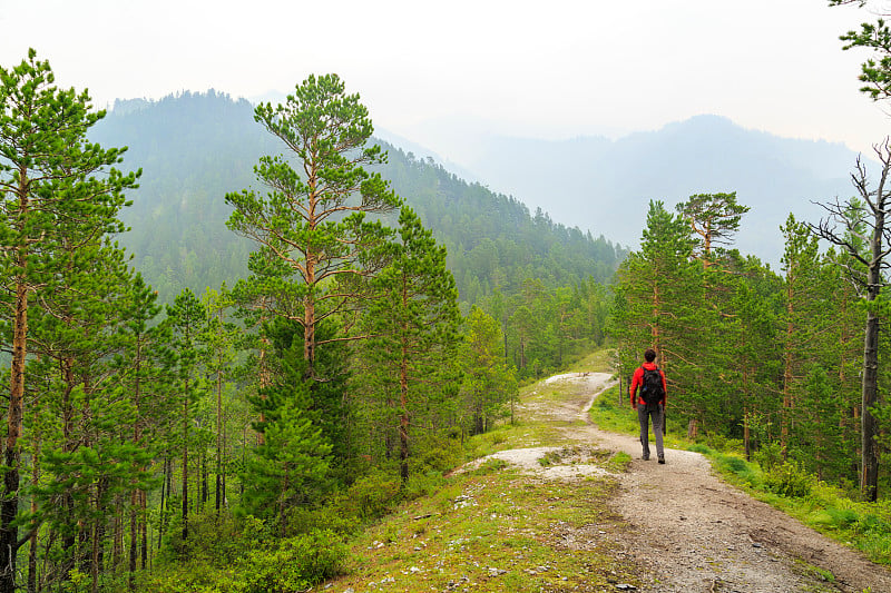
<path id="1" fill-rule="evenodd" d="M 575 370 L 522 388 L 522 422 L 473 437 L 487 455 L 352 542 L 325 589 L 891 591 L 887 567 L 723 482 L 699 453 L 640 459 L 636 434 L 590 422 L 617 395 L 606 359 Z"/>

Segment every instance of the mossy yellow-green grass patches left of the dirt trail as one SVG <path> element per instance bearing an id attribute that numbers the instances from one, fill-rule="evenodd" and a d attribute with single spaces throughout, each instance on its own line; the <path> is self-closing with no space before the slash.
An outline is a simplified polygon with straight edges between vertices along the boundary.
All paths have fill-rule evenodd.
<path id="1" fill-rule="evenodd" d="M 597 355 L 572 370 L 606 370 Z M 530 385 L 522 403 L 559 402 L 561 386 Z M 554 446 L 557 434 L 520 421 L 474 437 L 474 456 Z M 585 463 L 623 471 L 627 456 L 594 455 Z M 548 459 L 542 459 L 542 464 Z M 635 566 L 605 537 L 620 532 L 608 507 L 615 478 L 544 481 L 503 462 L 452 475 L 446 487 L 418 498 L 354 542 L 347 574 L 327 591 L 616 591 L 638 585 Z"/>

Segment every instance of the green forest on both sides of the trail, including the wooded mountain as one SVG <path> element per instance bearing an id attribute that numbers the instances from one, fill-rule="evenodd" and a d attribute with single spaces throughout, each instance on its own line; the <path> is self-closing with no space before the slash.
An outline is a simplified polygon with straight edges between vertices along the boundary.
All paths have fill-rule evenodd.
<path id="1" fill-rule="evenodd" d="M 732 188 L 628 253 L 382 147 L 336 75 L 112 113 L 33 50 L 0 80 L 2 593 L 306 590 L 600 347 L 626 387 L 657 348 L 691 439 L 885 495 L 887 146 L 776 273 Z"/>

